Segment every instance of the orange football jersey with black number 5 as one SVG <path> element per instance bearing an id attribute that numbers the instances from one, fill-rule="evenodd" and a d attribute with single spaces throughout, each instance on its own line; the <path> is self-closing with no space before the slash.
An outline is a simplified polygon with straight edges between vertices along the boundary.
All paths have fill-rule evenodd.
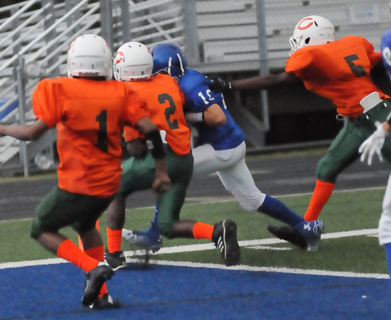
<path id="1" fill-rule="evenodd" d="M 338 114 L 363 114 L 360 100 L 372 92 L 388 96 L 370 80 L 370 69 L 381 59 L 365 38 L 349 35 L 324 45 L 296 50 L 286 61 L 285 71 L 293 72 L 309 89 L 337 106 Z"/>

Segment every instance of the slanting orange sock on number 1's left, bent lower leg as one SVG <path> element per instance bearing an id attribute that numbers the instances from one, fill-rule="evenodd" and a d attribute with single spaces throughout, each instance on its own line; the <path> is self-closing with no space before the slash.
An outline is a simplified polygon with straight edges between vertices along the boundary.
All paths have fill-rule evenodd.
<path id="1" fill-rule="evenodd" d="M 94 269 L 99 263 L 99 260 L 82 252 L 82 250 L 77 248 L 77 245 L 69 239 L 64 240 L 60 244 L 57 249 L 57 256 L 58 258 L 63 258 L 68 260 L 70 263 L 77 265 L 77 267 L 80 267 L 85 272 Z"/>

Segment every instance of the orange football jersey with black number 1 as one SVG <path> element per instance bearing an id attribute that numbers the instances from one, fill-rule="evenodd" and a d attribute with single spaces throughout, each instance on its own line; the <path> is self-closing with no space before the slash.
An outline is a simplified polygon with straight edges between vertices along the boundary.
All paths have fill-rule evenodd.
<path id="1" fill-rule="evenodd" d="M 43 79 L 33 92 L 36 118 L 57 126 L 58 186 L 110 197 L 121 179 L 121 133 L 148 116 L 145 100 L 117 81 Z"/>

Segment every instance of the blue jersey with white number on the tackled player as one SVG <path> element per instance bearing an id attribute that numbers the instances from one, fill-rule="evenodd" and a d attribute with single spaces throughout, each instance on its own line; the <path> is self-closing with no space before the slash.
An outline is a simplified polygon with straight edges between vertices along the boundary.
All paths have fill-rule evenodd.
<path id="1" fill-rule="evenodd" d="M 210 143 L 215 150 L 226 150 L 237 147 L 245 140 L 245 133 L 227 110 L 223 94 L 215 93 L 209 89 L 205 75 L 192 69 L 186 69 L 178 84 L 185 94 L 185 112 L 203 112 L 209 106 L 218 104 L 227 117 L 223 126 L 194 123 L 200 144 Z"/>

